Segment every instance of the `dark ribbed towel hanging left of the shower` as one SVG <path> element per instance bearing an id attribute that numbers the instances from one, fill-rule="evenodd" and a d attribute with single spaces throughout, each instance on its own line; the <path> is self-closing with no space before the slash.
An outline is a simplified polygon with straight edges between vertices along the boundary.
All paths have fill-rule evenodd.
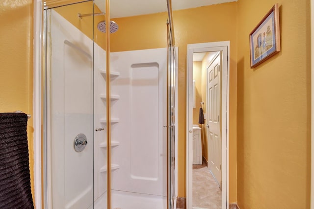
<path id="1" fill-rule="evenodd" d="M 33 209 L 27 115 L 0 113 L 0 209 Z"/>

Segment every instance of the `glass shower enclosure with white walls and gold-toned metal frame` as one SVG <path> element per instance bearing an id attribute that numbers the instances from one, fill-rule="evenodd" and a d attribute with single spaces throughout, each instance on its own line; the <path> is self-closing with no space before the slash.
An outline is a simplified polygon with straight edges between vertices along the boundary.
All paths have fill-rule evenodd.
<path id="1" fill-rule="evenodd" d="M 105 26 L 108 2 L 45 2 L 44 206 L 173 209 L 171 11 L 164 48 L 110 52 L 104 32 L 121 26 Z"/>

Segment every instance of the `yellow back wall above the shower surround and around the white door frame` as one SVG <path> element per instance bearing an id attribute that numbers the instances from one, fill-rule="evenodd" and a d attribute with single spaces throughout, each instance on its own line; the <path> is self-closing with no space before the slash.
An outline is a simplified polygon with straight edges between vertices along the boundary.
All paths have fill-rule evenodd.
<path id="1" fill-rule="evenodd" d="M 236 202 L 236 18 L 237 4 L 223 3 L 173 12 L 179 48 L 178 196 L 185 197 L 185 101 L 187 44 L 230 40 L 230 202 Z M 119 30 L 110 36 L 111 52 L 166 47 L 167 13 L 113 19 Z"/>

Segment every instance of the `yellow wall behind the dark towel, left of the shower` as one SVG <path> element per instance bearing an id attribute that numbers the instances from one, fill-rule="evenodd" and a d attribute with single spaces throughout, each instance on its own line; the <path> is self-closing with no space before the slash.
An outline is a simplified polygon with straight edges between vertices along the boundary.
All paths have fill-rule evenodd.
<path id="1" fill-rule="evenodd" d="M 33 3 L 0 0 L 0 112 L 33 112 Z M 34 198 L 33 120 L 27 122 L 29 168 Z"/>

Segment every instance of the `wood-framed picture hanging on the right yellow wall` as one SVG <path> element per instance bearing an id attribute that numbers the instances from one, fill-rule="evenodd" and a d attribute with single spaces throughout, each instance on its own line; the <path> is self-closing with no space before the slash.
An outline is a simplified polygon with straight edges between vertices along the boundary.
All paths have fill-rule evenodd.
<path id="1" fill-rule="evenodd" d="M 250 33 L 251 68 L 280 52 L 279 9 L 276 3 Z"/>

